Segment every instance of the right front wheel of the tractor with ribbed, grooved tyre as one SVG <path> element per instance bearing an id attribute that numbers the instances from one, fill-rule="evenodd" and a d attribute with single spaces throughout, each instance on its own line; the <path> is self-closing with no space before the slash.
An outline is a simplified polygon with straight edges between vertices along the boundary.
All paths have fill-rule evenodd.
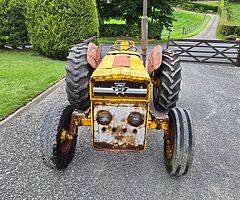
<path id="1" fill-rule="evenodd" d="M 170 175 L 182 176 L 193 162 L 195 137 L 189 113 L 174 108 L 168 113 L 171 138 L 164 142 L 164 157 Z"/>

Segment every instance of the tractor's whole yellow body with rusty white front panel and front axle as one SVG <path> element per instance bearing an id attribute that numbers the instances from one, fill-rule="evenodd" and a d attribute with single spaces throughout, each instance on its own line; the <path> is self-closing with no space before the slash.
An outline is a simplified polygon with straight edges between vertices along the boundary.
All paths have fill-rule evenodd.
<path id="1" fill-rule="evenodd" d="M 74 113 L 75 125 L 92 127 L 92 145 L 96 149 L 143 151 L 148 129 L 162 129 L 167 133 L 168 119 L 156 118 L 150 112 L 152 82 L 141 56 L 134 51 L 134 43 L 117 41 L 113 49 L 93 72 L 91 109 L 84 114 Z M 126 93 L 115 90 L 115 84 L 116 88 L 123 84 Z M 110 124 L 98 123 L 98 113 L 102 111 L 112 114 Z M 142 114 L 142 124 L 130 124 L 128 117 L 133 112 Z"/>

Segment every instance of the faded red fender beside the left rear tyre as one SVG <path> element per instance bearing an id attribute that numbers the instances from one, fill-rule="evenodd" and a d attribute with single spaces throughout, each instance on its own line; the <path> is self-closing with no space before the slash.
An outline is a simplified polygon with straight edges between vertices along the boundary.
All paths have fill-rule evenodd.
<path id="1" fill-rule="evenodd" d="M 88 64 L 94 69 L 96 69 L 101 62 L 100 50 L 92 42 L 90 42 L 89 45 L 88 45 L 87 61 L 88 61 Z"/>

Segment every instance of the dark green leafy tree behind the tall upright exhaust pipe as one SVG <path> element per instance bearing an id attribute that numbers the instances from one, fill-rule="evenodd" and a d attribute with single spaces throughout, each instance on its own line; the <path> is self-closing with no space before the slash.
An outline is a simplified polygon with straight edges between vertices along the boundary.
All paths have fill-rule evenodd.
<path id="1" fill-rule="evenodd" d="M 127 25 L 140 24 L 142 1 L 139 0 L 98 0 L 101 1 L 103 19 L 117 18 L 126 20 Z M 148 0 L 150 25 L 170 28 L 173 22 L 173 6 L 179 0 Z"/>

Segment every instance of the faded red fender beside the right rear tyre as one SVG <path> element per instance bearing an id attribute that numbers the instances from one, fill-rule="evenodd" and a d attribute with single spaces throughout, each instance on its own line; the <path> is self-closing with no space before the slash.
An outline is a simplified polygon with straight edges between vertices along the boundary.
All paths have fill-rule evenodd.
<path id="1" fill-rule="evenodd" d="M 162 47 L 154 47 L 148 59 L 148 73 L 151 75 L 162 64 Z"/>

